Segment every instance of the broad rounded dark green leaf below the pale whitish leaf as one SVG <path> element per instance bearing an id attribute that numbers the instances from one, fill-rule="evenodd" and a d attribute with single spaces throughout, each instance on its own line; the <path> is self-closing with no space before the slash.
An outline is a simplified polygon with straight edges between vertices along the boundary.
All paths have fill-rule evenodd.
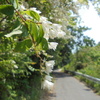
<path id="1" fill-rule="evenodd" d="M 21 42 L 18 42 L 16 47 L 15 47 L 15 51 L 16 52 L 25 52 L 27 50 L 29 50 L 32 46 L 32 41 L 30 39 L 25 39 Z"/>

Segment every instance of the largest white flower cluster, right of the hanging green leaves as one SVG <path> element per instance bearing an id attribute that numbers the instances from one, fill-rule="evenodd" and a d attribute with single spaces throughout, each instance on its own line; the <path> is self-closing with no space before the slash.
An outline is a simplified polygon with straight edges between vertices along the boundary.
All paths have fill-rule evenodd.
<path id="1" fill-rule="evenodd" d="M 55 24 L 50 21 L 46 17 L 41 16 L 40 22 L 42 22 L 43 29 L 45 32 L 44 38 L 47 40 L 54 38 L 63 38 L 66 33 L 62 31 L 62 26 L 60 24 Z"/>

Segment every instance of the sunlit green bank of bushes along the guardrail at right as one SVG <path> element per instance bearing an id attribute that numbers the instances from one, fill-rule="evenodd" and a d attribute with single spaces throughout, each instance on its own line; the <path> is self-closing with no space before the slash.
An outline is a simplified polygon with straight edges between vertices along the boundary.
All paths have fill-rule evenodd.
<path id="1" fill-rule="evenodd" d="M 96 78 L 100 78 L 100 45 L 94 47 L 85 47 L 71 56 L 71 62 L 66 65 L 67 70 L 77 70 L 83 74 L 87 74 Z M 80 80 L 85 81 L 88 86 L 92 87 L 95 92 L 100 94 L 100 84 L 87 80 L 86 78 L 79 77 Z"/>

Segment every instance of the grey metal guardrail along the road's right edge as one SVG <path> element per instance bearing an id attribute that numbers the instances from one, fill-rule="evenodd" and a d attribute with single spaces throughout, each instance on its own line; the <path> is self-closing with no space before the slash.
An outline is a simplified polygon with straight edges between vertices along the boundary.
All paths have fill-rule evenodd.
<path id="1" fill-rule="evenodd" d="M 69 70 L 66 70 L 66 72 L 68 73 L 72 73 L 72 74 L 75 74 L 75 75 L 80 75 L 80 76 L 83 76 L 89 80 L 92 80 L 94 82 L 97 82 L 100 84 L 100 78 L 95 78 L 95 77 L 92 77 L 92 76 L 89 76 L 89 75 L 86 75 L 86 74 L 83 74 L 83 73 L 80 73 L 80 72 L 74 72 L 74 71 L 69 71 Z"/>

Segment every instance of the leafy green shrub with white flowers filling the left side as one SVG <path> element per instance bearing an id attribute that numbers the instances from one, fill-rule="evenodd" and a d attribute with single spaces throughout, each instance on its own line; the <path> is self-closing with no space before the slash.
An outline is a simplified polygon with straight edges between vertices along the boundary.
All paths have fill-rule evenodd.
<path id="1" fill-rule="evenodd" d="M 41 12 L 36 8 L 25 7 L 28 6 L 26 2 L 5 0 L 0 4 L 0 100 L 15 100 L 17 97 L 31 100 L 25 96 L 25 90 L 29 91 L 32 86 L 31 78 L 34 79 L 33 87 L 37 83 L 39 86 L 36 85 L 36 91 L 32 90 L 33 99 L 38 100 L 40 92 L 37 89 L 53 86 L 50 73 L 55 62 L 46 59 L 46 50 L 54 47 L 49 38 L 63 38 L 66 33 L 61 25 L 40 16 Z M 58 32 L 55 28 L 59 29 Z"/>

